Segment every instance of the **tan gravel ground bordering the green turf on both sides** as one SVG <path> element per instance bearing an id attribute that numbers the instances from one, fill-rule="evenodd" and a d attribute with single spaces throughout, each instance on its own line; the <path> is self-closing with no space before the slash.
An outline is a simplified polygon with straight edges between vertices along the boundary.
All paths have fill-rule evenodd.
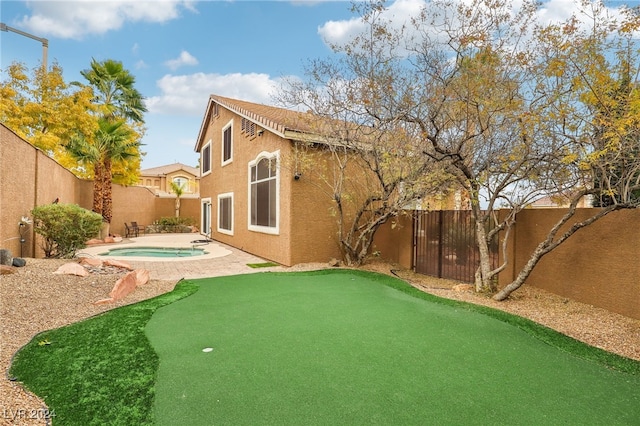
<path id="1" fill-rule="evenodd" d="M 171 291 L 175 281 L 152 280 L 125 299 L 93 305 L 107 297 L 123 270 L 106 270 L 88 277 L 57 275 L 64 260 L 27 259 L 27 266 L 0 278 L 0 424 L 47 424 L 42 400 L 9 380 L 13 354 L 41 332 Z M 299 265 L 285 270 L 309 270 L 324 264 Z M 373 263 L 364 267 L 390 274 L 393 267 Z M 471 291 L 456 291 L 458 282 L 395 270 L 411 285 L 441 297 L 502 309 L 556 329 L 593 346 L 640 360 L 640 320 L 614 314 L 531 287 L 523 287 L 506 302 L 495 302 Z M 32 418 L 35 417 L 35 418 Z M 54 422 L 55 424 L 55 419 Z"/>

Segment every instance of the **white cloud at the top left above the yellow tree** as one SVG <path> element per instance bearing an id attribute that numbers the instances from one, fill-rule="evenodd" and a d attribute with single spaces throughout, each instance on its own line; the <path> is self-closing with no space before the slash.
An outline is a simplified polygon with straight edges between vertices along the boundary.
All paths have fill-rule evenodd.
<path id="1" fill-rule="evenodd" d="M 33 13 L 23 17 L 19 25 L 45 37 L 80 39 L 120 29 L 125 22 L 176 19 L 181 9 L 195 11 L 193 4 L 189 0 L 32 1 L 27 6 Z"/>

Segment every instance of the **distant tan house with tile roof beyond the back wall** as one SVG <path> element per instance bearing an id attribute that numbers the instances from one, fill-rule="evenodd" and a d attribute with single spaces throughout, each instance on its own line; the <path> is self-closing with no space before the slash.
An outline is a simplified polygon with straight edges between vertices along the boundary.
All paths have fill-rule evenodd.
<path id="1" fill-rule="evenodd" d="M 200 170 L 197 167 L 181 163 L 140 170 L 138 186 L 147 187 L 159 196 L 175 196 L 171 189 L 171 182 L 182 186 L 183 197 L 197 197 L 200 186 Z"/>

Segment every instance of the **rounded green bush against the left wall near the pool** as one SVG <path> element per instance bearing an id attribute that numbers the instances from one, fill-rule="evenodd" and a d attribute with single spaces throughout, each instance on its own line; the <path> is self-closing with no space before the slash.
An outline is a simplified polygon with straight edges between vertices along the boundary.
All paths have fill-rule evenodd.
<path id="1" fill-rule="evenodd" d="M 31 211 L 33 226 L 42 235 L 46 257 L 71 258 L 102 227 L 102 216 L 76 204 L 46 204 Z"/>

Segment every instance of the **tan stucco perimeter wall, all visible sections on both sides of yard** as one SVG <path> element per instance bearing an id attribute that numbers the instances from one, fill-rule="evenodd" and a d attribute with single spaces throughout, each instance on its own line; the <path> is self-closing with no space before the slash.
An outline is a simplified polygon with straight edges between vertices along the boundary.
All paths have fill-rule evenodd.
<path id="1" fill-rule="evenodd" d="M 34 207 L 55 199 L 91 209 L 92 197 L 91 181 L 76 178 L 0 124 L 0 248 L 11 250 L 14 256 L 43 257 L 31 226 L 25 242 L 20 243 L 21 217 L 30 217 Z M 159 198 L 144 187 L 114 185 L 110 232 L 124 235 L 125 222 L 148 225 L 174 216 L 174 203 L 175 199 Z M 586 217 L 590 210 L 580 210 L 576 219 Z M 515 277 L 562 213 L 562 209 L 528 209 L 518 215 L 508 247 L 510 266 L 500 274 L 500 286 Z M 180 216 L 198 224 L 199 200 L 182 198 Z M 385 224 L 373 250 L 383 259 L 413 268 L 411 215 Z M 611 213 L 578 231 L 540 261 L 525 285 L 640 319 L 640 209 Z"/>

